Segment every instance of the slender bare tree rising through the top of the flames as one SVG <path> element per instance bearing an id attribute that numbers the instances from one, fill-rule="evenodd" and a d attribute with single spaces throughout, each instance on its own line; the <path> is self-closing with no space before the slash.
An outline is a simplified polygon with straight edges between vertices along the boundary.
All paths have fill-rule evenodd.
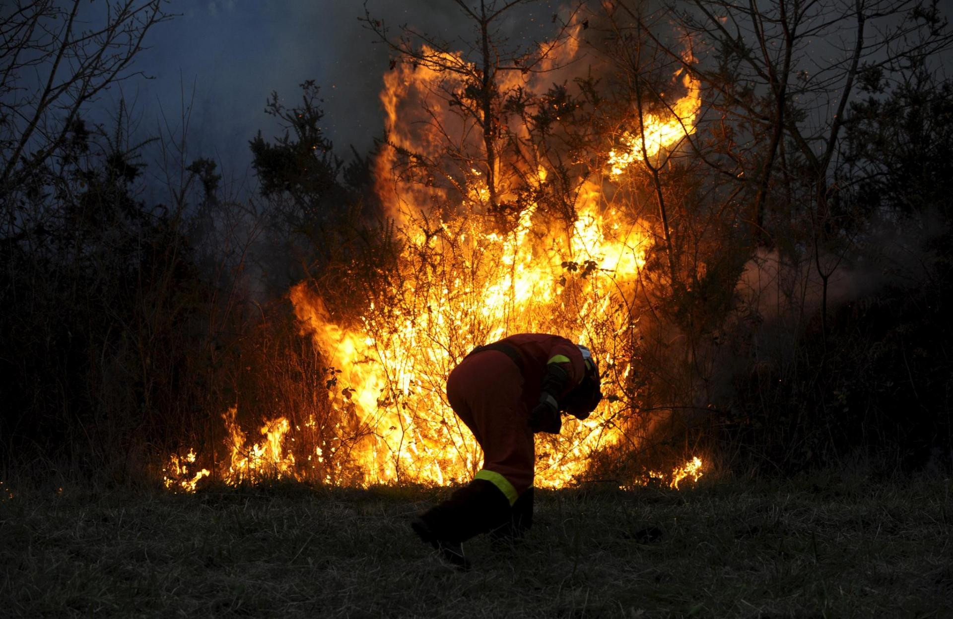
<path id="1" fill-rule="evenodd" d="M 430 94 L 447 110 L 453 110 L 462 123 L 462 130 L 451 131 L 446 116 L 428 108 L 428 122 L 446 148 L 440 153 L 441 160 L 452 162 L 451 168 L 448 170 L 420 153 L 407 152 L 404 154 L 412 159 L 410 167 L 425 169 L 428 179 L 439 174 L 464 200 L 468 195 L 467 179 L 479 176 L 486 184 L 487 210 L 497 215 L 512 213 L 519 206 L 507 201 L 526 182 L 526 170 L 514 162 L 525 163 L 534 155 L 520 150 L 518 140 L 508 129 L 508 119 L 527 107 L 527 93 L 523 90 L 527 78 L 560 69 L 558 54 L 567 42 L 572 16 L 578 7 L 570 10 L 569 19 L 559 22 L 549 42 L 517 44 L 503 37 L 500 30 L 507 20 L 517 18 L 520 6 L 532 4 L 531 0 L 480 0 L 473 7 L 472 3 L 454 0 L 454 4 L 473 24 L 475 40 L 450 41 L 407 26 L 392 36 L 387 25 L 375 19 L 366 7 L 364 21 L 393 52 L 392 69 L 406 64 L 441 76 L 433 82 Z M 557 21 L 556 16 L 553 21 Z M 478 135 L 476 139 L 471 139 L 473 129 Z M 511 150 L 509 164 L 502 161 L 507 149 Z M 530 173 L 535 174 L 536 167 Z"/>

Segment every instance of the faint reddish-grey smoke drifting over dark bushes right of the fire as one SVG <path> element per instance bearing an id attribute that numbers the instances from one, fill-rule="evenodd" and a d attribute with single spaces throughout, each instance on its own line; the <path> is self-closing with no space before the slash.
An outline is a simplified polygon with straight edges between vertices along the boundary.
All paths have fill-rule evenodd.
<path id="1" fill-rule="evenodd" d="M 805 330 L 820 333 L 824 290 L 819 262 L 822 272 L 829 273 L 826 314 L 834 320 L 845 306 L 863 308 L 891 287 L 932 285 L 936 256 L 929 245 L 944 230 L 943 218 L 927 211 L 876 220 L 848 252 L 821 253 L 820 260 L 809 248 L 801 248 L 797 259 L 777 250 L 760 251 L 745 266 L 736 288 L 739 303 L 724 329 L 732 345 L 719 349 L 711 400 L 730 400 L 738 375 L 784 370 L 794 363 L 792 351 L 801 346 Z"/>

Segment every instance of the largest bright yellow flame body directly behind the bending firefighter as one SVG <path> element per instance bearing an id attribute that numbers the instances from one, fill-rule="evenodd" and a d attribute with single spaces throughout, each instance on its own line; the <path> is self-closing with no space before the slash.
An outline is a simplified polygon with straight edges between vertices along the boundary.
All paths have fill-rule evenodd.
<path id="1" fill-rule="evenodd" d="M 587 326 L 608 317 L 615 334 L 632 328 L 618 290 L 637 277 L 647 237 L 636 226 L 612 223 L 612 216 L 583 211 L 568 239 L 544 243 L 531 234 L 532 210 L 508 234 L 480 230 L 476 219 L 444 222 L 439 235 L 417 236 L 406 249 L 415 256 L 430 246 L 428 255 L 440 260 L 425 290 L 405 281 L 391 291 L 398 303 L 386 320 L 371 308 L 357 329 L 335 325 L 305 286 L 292 290 L 299 320 L 340 369 L 335 406 L 375 430 L 351 451 L 362 463 L 361 483 L 444 484 L 472 476 L 478 448 L 449 409 L 444 381 L 467 352 L 508 333 L 559 332 L 585 342 L 614 378 L 604 390 L 618 395 L 629 362 L 617 363 L 612 343 L 594 341 Z M 575 258 L 569 267 L 575 270 L 564 266 L 566 256 Z M 407 267 L 416 272 L 413 258 Z M 565 485 L 593 451 L 617 443 L 613 419 L 621 406 L 606 404 L 584 422 L 567 422 L 556 445 L 541 446 L 537 485 Z"/>

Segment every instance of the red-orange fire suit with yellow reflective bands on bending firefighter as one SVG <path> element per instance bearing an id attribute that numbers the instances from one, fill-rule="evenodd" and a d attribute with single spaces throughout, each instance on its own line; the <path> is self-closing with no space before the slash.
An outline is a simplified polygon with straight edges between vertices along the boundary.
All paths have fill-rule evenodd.
<path id="1" fill-rule="evenodd" d="M 498 348 L 478 348 L 450 372 L 447 399 L 483 448 L 483 469 L 475 479 L 493 483 L 512 506 L 533 486 L 529 417 L 547 366 L 558 364 L 568 375 L 561 397 L 583 379 L 585 365 L 578 347 L 558 335 L 519 333 L 490 346 Z M 554 414 L 541 431 L 558 433 L 559 413 Z"/>

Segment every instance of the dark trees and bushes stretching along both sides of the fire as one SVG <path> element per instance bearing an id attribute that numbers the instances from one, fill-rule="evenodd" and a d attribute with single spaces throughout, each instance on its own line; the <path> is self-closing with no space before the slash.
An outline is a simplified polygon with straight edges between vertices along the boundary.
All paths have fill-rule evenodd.
<path id="1" fill-rule="evenodd" d="M 328 369 L 287 291 L 306 280 L 330 310 L 355 315 L 355 291 L 389 276 L 398 250 L 375 194 L 376 153 L 335 151 L 314 82 L 290 107 L 275 93 L 268 100 L 271 129 L 249 136 L 251 197 L 230 195 L 184 136 L 133 138 L 124 105 L 110 124 L 88 120 L 97 94 L 135 79 L 141 41 L 167 19 L 161 2 L 112 4 L 110 21 L 81 43 L 70 35 L 71 3 L 0 10 L 0 30 L 11 33 L 0 50 L 0 469 L 154 477 L 173 450 L 222 449 L 231 407 L 254 420 L 326 407 Z M 799 46 L 816 35 L 807 23 L 833 12 L 781 9 L 751 22 L 730 3 L 702 2 L 661 19 L 613 4 L 574 17 L 588 15 L 598 80 L 567 79 L 533 101 L 484 81 L 464 99 L 481 114 L 523 114 L 542 128 L 540 143 L 573 138 L 573 161 L 597 169 L 605 143 L 598 133 L 585 141 L 587 130 L 610 135 L 619 110 L 666 105 L 660 92 L 682 61 L 653 29 L 677 23 L 718 43 L 681 68 L 700 81 L 709 124 L 687 157 L 634 172 L 641 189 L 626 188 L 662 222 L 646 267 L 652 307 L 662 309 L 631 351 L 633 414 L 684 405 L 692 412 L 659 442 L 703 446 L 725 469 L 953 466 L 953 83 L 931 69 L 950 48 L 937 4 L 847 3 L 850 28 L 863 11 L 889 13 L 895 30 L 883 36 L 914 43 L 899 50 L 858 36 L 821 83 L 796 70 Z M 742 29 L 754 39 L 719 30 L 725 14 L 760 23 Z M 583 30 L 563 30 L 573 31 Z M 395 58 L 428 62 L 414 57 L 413 37 L 392 41 Z M 63 54 L 69 67 L 55 65 Z M 64 86 L 25 88 L 34 69 Z M 835 113 L 809 96 L 827 97 Z M 540 102 L 576 111 L 550 118 L 533 108 Z M 466 168 L 496 169 L 485 144 Z M 163 164 L 147 167 L 146 150 Z M 147 182 L 168 197 L 143 199 Z M 576 216 L 572 202 L 552 204 L 570 205 L 558 217 Z M 518 209 L 491 207 L 494 225 L 514 225 Z M 690 354 L 651 344 L 673 332 Z"/>

